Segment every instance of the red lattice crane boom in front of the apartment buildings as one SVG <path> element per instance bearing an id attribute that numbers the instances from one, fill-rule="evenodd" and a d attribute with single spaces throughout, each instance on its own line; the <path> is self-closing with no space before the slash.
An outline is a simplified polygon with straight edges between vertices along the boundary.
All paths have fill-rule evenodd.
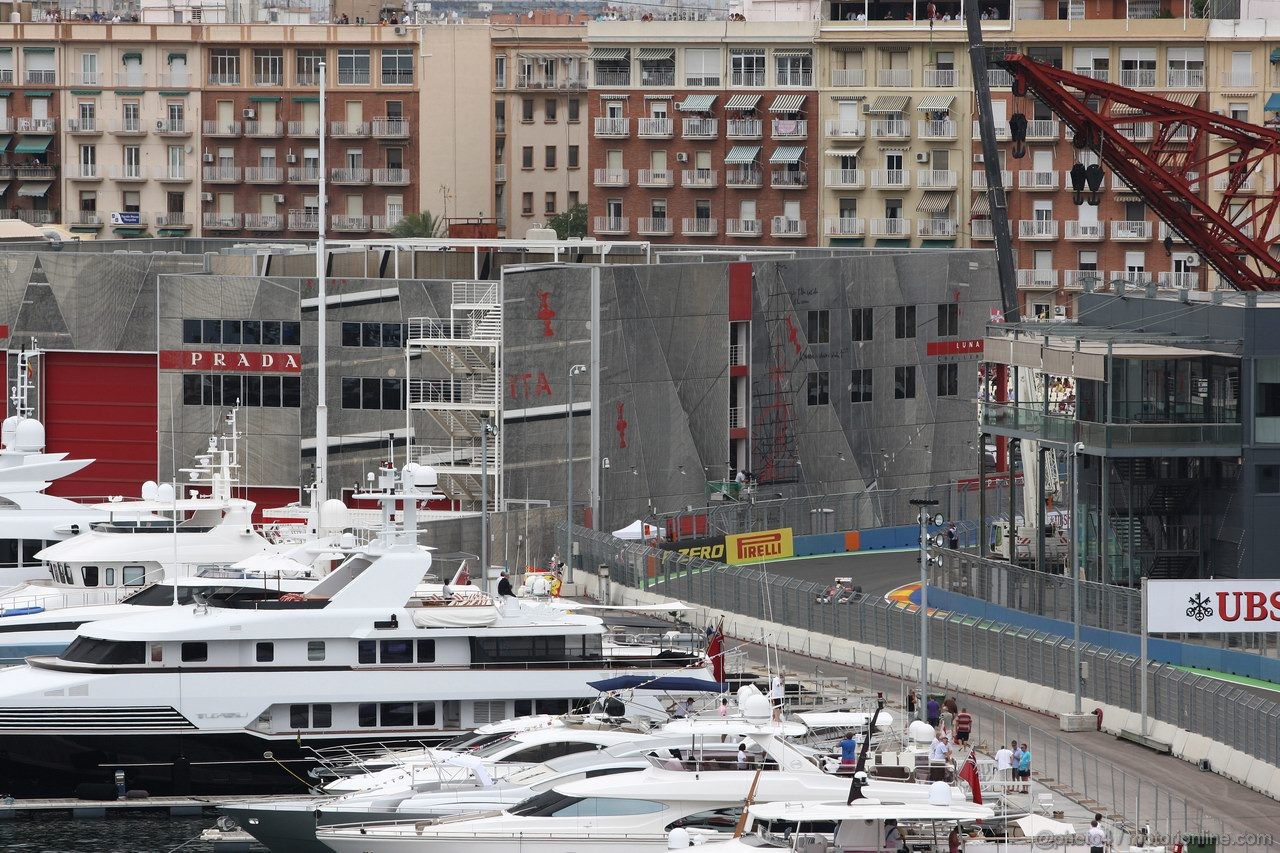
<path id="1" fill-rule="evenodd" d="M 1029 91 L 1044 101 L 1075 131 L 1078 149 L 1097 151 L 1222 278 L 1242 291 L 1280 289 L 1280 257 L 1271 254 L 1280 207 L 1280 131 L 1021 54 L 1000 64 L 1014 77 L 1015 96 Z M 1146 124 L 1151 141 L 1133 138 L 1134 128 Z M 1225 191 L 1215 207 L 1204 187 L 1220 175 Z"/>

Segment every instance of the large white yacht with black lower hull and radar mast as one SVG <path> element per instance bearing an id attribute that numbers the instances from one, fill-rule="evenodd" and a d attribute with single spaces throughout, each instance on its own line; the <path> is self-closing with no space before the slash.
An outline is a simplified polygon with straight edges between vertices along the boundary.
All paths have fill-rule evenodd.
<path id="1" fill-rule="evenodd" d="M 607 658 L 595 616 L 468 587 L 421 596 L 416 505 L 435 483 L 384 467 L 357 496 L 381 503 L 378 537 L 306 594 L 88 622 L 60 654 L 0 670 L 9 793 L 65 795 L 116 768 L 151 794 L 305 790 L 316 747 L 445 739 L 621 670 L 712 681 L 701 652 Z"/>

